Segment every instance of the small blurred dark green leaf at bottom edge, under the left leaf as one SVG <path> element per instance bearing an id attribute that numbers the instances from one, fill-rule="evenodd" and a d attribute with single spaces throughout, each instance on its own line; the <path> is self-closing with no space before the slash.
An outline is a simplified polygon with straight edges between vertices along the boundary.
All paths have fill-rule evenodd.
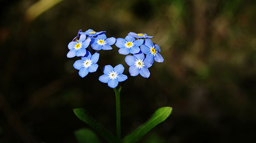
<path id="1" fill-rule="evenodd" d="M 100 143 L 97 135 L 90 129 L 80 129 L 75 135 L 79 143 Z"/>

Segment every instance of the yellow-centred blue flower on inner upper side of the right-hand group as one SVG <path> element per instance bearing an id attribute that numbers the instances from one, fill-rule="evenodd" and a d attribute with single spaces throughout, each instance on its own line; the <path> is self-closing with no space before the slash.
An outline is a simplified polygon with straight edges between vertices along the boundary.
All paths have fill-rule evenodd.
<path id="1" fill-rule="evenodd" d="M 134 37 L 127 35 L 125 37 L 125 39 L 117 38 L 115 45 L 118 48 L 120 48 L 118 50 L 118 52 L 120 54 L 126 55 L 126 54 L 129 54 L 129 53 L 132 53 L 132 54 L 138 53 L 140 51 L 139 46 L 142 45 L 143 42 L 144 42 L 143 39 L 139 39 L 139 40 L 135 41 Z"/>

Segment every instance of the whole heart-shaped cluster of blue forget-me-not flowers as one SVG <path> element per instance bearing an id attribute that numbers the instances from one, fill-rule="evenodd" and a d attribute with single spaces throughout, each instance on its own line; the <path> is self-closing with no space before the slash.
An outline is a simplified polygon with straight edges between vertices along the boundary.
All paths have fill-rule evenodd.
<path id="1" fill-rule="evenodd" d="M 137 38 L 137 40 L 135 39 Z M 125 56 L 125 63 L 130 66 L 129 73 L 131 76 L 140 74 L 142 77 L 150 77 L 150 68 L 154 61 L 162 63 L 160 47 L 153 43 L 146 34 L 136 34 L 130 32 L 123 38 L 107 38 L 105 31 L 95 32 L 87 30 L 82 32 L 79 30 L 77 36 L 68 44 L 68 58 L 80 57 L 80 60 L 75 61 L 73 67 L 79 70 L 78 74 L 85 77 L 89 72 L 96 72 L 98 69 L 99 50 L 111 50 L 111 45 L 116 45 L 120 54 Z M 91 45 L 91 46 L 89 46 Z M 127 55 L 129 54 L 129 55 Z M 99 81 L 108 83 L 109 87 L 116 88 L 119 82 L 127 79 L 127 76 L 122 74 L 124 71 L 123 65 L 119 64 L 114 68 L 111 65 L 103 67 L 103 75 L 99 77 Z"/>

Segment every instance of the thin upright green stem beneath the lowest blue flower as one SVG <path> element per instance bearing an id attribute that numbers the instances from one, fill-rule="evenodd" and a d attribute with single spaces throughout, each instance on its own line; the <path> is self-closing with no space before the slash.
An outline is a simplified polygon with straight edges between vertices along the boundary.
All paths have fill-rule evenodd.
<path id="1" fill-rule="evenodd" d="M 122 87 L 119 87 L 119 89 L 114 89 L 115 95 L 116 95 L 116 135 L 117 139 L 121 140 L 121 113 L 120 113 L 120 92 Z"/>

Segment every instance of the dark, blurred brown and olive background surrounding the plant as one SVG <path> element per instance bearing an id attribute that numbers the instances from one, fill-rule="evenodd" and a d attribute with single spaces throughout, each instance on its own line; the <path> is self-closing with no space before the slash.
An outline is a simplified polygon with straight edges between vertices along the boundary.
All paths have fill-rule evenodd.
<path id="1" fill-rule="evenodd" d="M 82 107 L 115 133 L 115 95 L 81 78 L 68 59 L 78 30 L 155 36 L 163 63 L 151 76 L 125 81 L 122 136 L 156 109 L 170 117 L 140 142 L 254 142 L 256 128 L 256 2 L 242 0 L 0 1 L 0 142 L 78 142 L 90 128 L 73 113 Z M 118 48 L 100 51 L 99 66 L 125 67 Z M 100 136 L 99 136 L 100 137 Z M 102 142 L 105 142 L 100 138 Z"/>

